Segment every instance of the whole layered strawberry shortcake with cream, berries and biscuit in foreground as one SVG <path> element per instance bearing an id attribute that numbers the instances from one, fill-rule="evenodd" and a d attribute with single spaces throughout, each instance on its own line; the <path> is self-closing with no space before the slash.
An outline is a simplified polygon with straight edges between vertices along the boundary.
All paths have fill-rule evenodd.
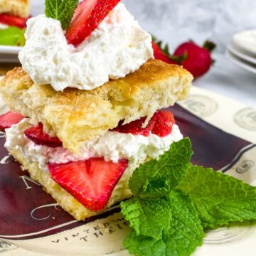
<path id="1" fill-rule="evenodd" d="M 193 77 L 154 60 L 151 36 L 119 1 L 76 3 L 70 20 L 49 2 L 28 20 L 22 68 L 0 82 L 11 110 L 0 129 L 23 169 L 84 220 L 132 196 L 133 171 L 182 139 L 163 109 L 188 96 Z"/>

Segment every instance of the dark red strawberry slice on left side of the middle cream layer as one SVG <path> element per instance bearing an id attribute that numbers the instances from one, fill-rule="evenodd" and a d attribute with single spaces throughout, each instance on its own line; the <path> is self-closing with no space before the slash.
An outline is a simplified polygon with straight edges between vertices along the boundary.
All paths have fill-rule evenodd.
<path id="1" fill-rule="evenodd" d="M 57 137 L 50 137 L 46 132 L 43 132 L 43 124 L 39 123 L 36 126 L 26 129 L 24 132 L 28 139 L 35 142 L 38 145 L 45 145 L 50 147 L 63 146 L 60 139 Z"/>

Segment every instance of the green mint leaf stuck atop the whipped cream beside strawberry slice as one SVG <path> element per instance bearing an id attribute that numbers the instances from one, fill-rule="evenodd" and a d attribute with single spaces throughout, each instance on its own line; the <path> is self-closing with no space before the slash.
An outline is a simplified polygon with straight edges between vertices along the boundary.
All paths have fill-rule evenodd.
<path id="1" fill-rule="evenodd" d="M 79 0 L 46 0 L 46 17 L 60 21 L 63 30 L 68 28 Z"/>

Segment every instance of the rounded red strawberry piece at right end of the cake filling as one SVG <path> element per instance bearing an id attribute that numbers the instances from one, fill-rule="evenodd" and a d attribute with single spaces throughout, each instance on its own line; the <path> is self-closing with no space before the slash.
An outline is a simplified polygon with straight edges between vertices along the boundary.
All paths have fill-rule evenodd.
<path id="1" fill-rule="evenodd" d="M 159 137 L 166 137 L 171 134 L 172 128 L 175 124 L 174 114 L 169 111 L 159 111 L 154 114 L 154 128 L 152 133 Z"/>

